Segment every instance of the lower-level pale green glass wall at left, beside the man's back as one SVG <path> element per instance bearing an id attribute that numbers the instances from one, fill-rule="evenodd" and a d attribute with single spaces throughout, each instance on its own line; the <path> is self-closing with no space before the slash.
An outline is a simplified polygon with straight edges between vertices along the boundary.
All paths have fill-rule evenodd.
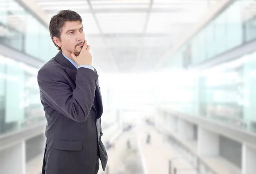
<path id="1" fill-rule="evenodd" d="M 37 72 L 0 55 L 0 134 L 45 121 Z"/>

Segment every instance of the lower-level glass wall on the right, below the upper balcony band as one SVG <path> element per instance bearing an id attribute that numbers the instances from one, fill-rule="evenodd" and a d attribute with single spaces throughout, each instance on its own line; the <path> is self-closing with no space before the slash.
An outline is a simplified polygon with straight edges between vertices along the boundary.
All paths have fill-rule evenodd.
<path id="1" fill-rule="evenodd" d="M 161 106 L 256 132 L 256 51 L 199 73 L 176 76 L 170 75 L 172 83 L 160 89 Z"/>

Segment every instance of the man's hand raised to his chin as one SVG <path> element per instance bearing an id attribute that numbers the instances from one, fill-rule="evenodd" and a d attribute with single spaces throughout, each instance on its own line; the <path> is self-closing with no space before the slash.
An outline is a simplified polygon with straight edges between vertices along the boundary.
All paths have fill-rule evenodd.
<path id="1" fill-rule="evenodd" d="M 84 41 L 85 43 L 85 41 Z M 90 54 L 90 45 L 84 45 L 81 49 L 79 56 L 76 56 L 73 52 L 71 57 L 76 62 L 78 66 L 80 65 L 91 65 L 92 64 L 92 55 Z"/>

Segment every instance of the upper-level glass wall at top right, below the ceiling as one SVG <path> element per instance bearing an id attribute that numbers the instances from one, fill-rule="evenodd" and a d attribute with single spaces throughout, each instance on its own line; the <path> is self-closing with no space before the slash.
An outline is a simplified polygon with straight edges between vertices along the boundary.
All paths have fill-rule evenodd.
<path id="1" fill-rule="evenodd" d="M 183 67 L 195 66 L 256 39 L 256 11 L 251 8 L 255 5 L 255 0 L 233 0 L 180 47 L 166 64 L 172 67 L 174 61 L 179 62 L 181 52 L 183 59 L 190 63 L 183 64 Z"/>

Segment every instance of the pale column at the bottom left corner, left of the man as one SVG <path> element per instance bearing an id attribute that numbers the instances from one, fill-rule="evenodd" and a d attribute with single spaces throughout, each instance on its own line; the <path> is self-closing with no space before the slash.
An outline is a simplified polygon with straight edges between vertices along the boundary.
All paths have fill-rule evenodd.
<path id="1" fill-rule="evenodd" d="M 26 174 L 25 141 L 0 151 L 0 174 Z"/>

